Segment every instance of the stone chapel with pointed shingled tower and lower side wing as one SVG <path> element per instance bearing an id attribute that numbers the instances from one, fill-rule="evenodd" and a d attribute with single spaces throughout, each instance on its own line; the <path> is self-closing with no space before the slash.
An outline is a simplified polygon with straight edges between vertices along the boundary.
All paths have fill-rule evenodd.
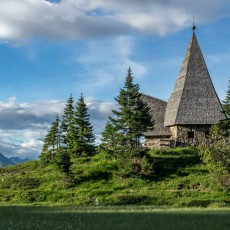
<path id="1" fill-rule="evenodd" d="M 203 144 L 211 125 L 225 119 L 193 26 L 187 52 L 169 100 L 143 94 L 155 121 L 145 133 L 145 146 L 175 147 Z"/>

